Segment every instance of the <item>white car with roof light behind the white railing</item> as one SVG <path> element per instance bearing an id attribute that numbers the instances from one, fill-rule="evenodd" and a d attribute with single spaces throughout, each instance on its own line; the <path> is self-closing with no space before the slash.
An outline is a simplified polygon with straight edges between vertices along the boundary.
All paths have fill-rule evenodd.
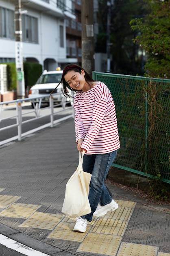
<path id="1" fill-rule="evenodd" d="M 49 95 L 50 93 L 56 88 L 56 86 L 61 81 L 61 77 L 63 74 L 63 70 L 55 70 L 55 71 L 46 71 L 41 74 L 39 77 L 37 83 L 31 87 L 29 90 L 28 98 L 35 98 L 39 96 L 43 96 L 43 94 L 48 94 L 46 97 L 42 98 L 41 103 L 48 103 L 49 104 Z M 61 92 L 61 84 L 57 89 L 53 92 L 53 99 L 54 103 L 60 103 L 62 101 L 62 98 L 65 96 Z M 57 95 L 55 95 L 57 93 Z M 58 94 L 59 93 L 59 94 Z M 34 103 L 39 103 L 40 99 L 33 99 L 31 102 L 31 105 Z M 66 101 L 70 101 L 70 98 L 65 98 Z M 72 105 L 72 104 L 68 104 Z"/>

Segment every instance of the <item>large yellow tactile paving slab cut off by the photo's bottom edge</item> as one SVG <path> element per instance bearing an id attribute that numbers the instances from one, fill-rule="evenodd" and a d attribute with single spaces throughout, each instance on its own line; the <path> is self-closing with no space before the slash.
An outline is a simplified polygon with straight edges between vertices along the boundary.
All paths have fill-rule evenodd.
<path id="1" fill-rule="evenodd" d="M 158 247 L 122 242 L 117 256 L 157 256 Z"/>

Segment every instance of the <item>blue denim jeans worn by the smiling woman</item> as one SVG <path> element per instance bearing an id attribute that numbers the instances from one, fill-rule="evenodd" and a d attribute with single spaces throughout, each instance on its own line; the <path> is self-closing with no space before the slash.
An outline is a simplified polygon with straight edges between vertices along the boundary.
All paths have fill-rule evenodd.
<path id="1" fill-rule="evenodd" d="M 83 171 L 92 174 L 89 189 L 89 203 L 92 211 L 89 214 L 81 216 L 83 219 L 92 221 L 92 216 L 96 211 L 98 203 L 100 202 L 100 205 L 104 206 L 112 201 L 111 193 L 104 182 L 109 168 L 116 158 L 117 152 L 118 150 L 106 154 L 84 155 Z"/>

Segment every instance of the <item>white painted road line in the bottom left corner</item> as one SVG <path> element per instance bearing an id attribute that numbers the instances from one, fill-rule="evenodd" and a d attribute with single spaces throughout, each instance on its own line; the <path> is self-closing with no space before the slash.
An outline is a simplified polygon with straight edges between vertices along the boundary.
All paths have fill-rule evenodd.
<path id="1" fill-rule="evenodd" d="M 0 244 L 27 256 L 50 256 L 0 234 Z"/>

